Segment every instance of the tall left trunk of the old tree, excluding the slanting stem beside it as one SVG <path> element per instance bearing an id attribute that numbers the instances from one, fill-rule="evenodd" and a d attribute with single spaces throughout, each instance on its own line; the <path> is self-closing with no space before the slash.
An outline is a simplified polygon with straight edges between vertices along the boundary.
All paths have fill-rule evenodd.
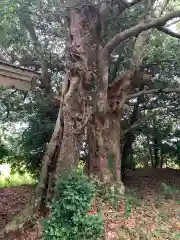
<path id="1" fill-rule="evenodd" d="M 89 93 L 96 80 L 100 43 L 99 12 L 92 4 L 76 4 L 69 12 L 68 89 L 64 94 L 64 133 L 56 174 L 77 166 L 84 128 L 91 117 Z"/>

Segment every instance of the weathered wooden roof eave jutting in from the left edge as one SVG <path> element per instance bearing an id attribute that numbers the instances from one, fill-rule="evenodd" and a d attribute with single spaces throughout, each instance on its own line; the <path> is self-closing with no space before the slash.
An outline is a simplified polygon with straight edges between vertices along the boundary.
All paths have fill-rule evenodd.
<path id="1" fill-rule="evenodd" d="M 30 91 L 36 86 L 40 73 L 0 62 L 0 86 Z"/>

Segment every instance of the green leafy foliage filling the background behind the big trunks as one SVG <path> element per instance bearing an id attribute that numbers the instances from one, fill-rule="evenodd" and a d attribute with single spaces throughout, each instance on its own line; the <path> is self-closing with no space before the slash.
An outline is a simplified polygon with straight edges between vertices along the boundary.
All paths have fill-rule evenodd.
<path id="1" fill-rule="evenodd" d="M 16 147 L 14 157 L 9 158 L 8 162 L 13 166 L 25 164 L 28 170 L 35 173 L 41 166 L 60 104 L 65 78 L 68 4 L 51 0 L 3 0 L 0 3 L 2 57 L 15 65 L 42 73 L 34 92 L 0 90 L 1 125 L 7 130 L 17 124 L 26 126 L 23 131 L 19 127 L 18 137 L 11 135 L 11 146 Z M 103 3 L 100 1 L 95 5 L 103 6 Z M 146 19 L 147 6 L 141 1 L 119 1 L 109 6 L 106 20 L 101 26 L 101 44 L 108 47 L 110 55 L 109 83 L 136 65 L 133 57 L 135 50 L 140 50 L 138 54 L 141 55 L 143 73 L 152 76 L 149 82 L 145 80 L 143 85 L 137 84 L 130 100 L 127 100 L 128 107 L 123 118 L 119 119 L 124 132 L 121 136 L 124 141 L 122 148 L 126 152 L 124 161 L 127 162 L 127 157 L 135 159 L 136 163 L 145 159 L 145 164 L 155 161 L 155 155 L 158 155 L 158 159 L 162 160 L 163 157 L 163 163 L 170 158 L 180 165 L 179 95 L 173 91 L 171 93 L 180 84 L 179 4 L 178 1 L 163 1 L 162 4 L 152 1 L 152 5 L 153 20 L 142 24 L 139 22 Z M 170 20 L 173 16 L 175 23 Z M 148 30 L 153 26 L 154 29 Z M 142 30 L 147 30 L 147 37 L 138 50 L 135 49 L 136 36 Z M 133 31 L 137 33 L 133 34 Z M 114 49 L 114 46 L 117 47 Z M 166 89 L 170 89 L 170 93 L 167 94 Z M 129 144 L 128 148 L 126 143 Z"/>

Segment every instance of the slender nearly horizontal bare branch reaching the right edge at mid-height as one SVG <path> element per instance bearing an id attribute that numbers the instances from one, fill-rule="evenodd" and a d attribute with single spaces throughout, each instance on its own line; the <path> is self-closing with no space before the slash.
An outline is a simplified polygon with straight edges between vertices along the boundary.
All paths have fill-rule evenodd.
<path id="1" fill-rule="evenodd" d="M 138 93 L 134 93 L 131 95 L 128 95 L 126 97 L 126 100 L 130 100 L 133 98 L 137 98 L 141 95 L 149 95 L 149 94 L 154 94 L 154 93 L 180 93 L 180 88 L 160 88 L 160 89 L 151 89 L 151 90 L 142 90 Z"/>

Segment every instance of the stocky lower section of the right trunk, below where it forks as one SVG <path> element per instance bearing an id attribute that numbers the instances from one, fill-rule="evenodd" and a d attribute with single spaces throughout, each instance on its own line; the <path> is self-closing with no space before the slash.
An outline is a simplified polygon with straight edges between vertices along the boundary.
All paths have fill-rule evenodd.
<path id="1" fill-rule="evenodd" d="M 117 113 L 108 113 L 104 121 L 94 118 L 89 140 L 90 171 L 97 173 L 103 183 L 121 181 L 119 119 Z"/>

